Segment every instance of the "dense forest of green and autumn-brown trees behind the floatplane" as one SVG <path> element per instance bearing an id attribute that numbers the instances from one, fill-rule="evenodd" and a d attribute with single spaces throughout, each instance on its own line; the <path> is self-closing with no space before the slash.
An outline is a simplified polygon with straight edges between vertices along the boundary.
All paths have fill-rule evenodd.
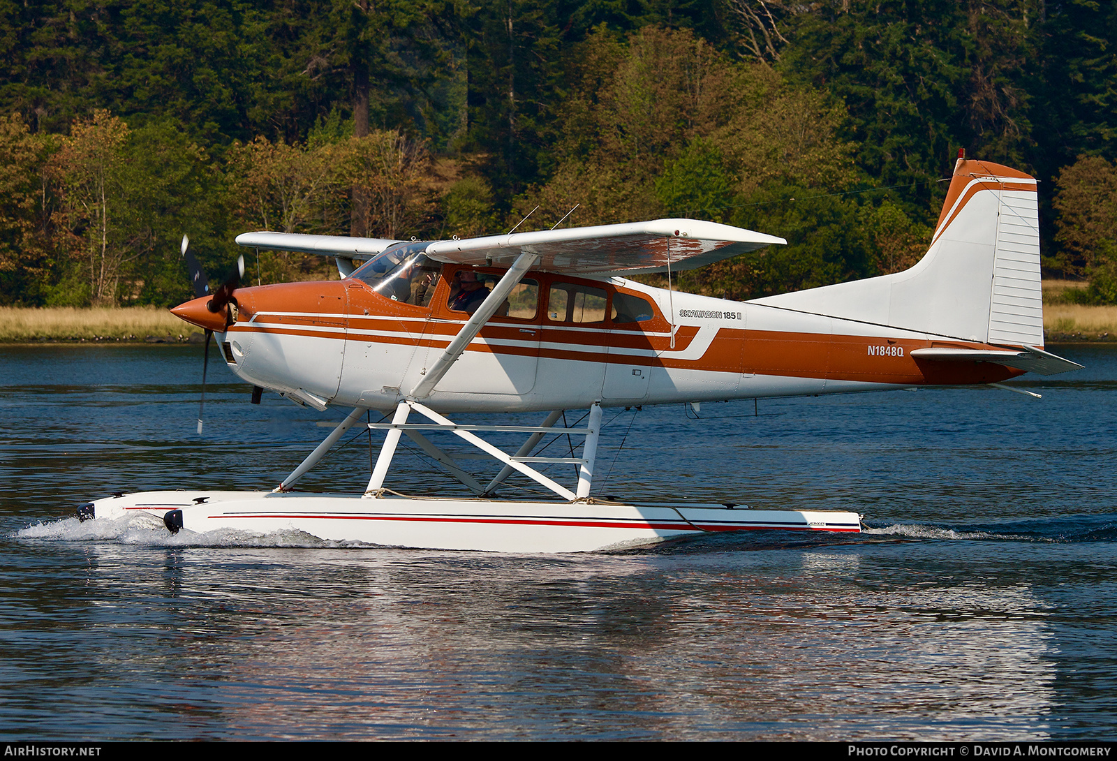
<path id="1" fill-rule="evenodd" d="M 178 303 L 183 234 L 220 276 L 245 230 L 575 204 L 787 238 L 680 283 L 748 298 L 909 267 L 960 149 L 1039 178 L 1046 273 L 1117 303 L 1117 2 L 8 0 L 0 37 L 0 304 Z"/>

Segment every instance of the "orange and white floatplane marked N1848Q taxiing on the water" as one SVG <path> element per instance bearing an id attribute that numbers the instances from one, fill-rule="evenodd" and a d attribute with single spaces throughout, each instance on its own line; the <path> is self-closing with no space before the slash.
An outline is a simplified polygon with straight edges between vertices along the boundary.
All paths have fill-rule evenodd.
<path id="1" fill-rule="evenodd" d="M 172 312 L 207 331 L 207 358 L 216 337 L 229 369 L 252 384 L 254 401 L 270 389 L 347 415 L 271 492 L 116 493 L 82 505 L 83 520 L 147 513 L 172 532 L 298 530 L 324 540 L 504 552 L 593 551 L 757 529 L 858 532 L 861 516 L 851 512 L 591 496 L 602 408 L 999 386 L 1029 371 L 1080 367 L 1043 349 L 1035 180 L 964 154 L 930 247 L 914 267 L 743 303 L 629 279 L 670 279 L 786 242 L 694 219 L 438 241 L 247 232 L 237 242 L 333 256 L 342 278 L 239 287 L 235 274 L 209 293 L 193 261 L 198 297 Z M 193 260 L 185 241 L 183 255 Z M 382 421 L 369 422 L 370 410 Z M 564 410 L 589 410 L 588 422 L 556 427 Z M 448 417 L 478 411 L 543 419 L 498 426 Z M 354 426 L 385 434 L 364 493 L 294 491 Z M 525 438 L 509 454 L 485 432 Z M 558 432 L 579 437 L 576 456 L 534 454 Z M 481 483 L 436 435 L 457 437 L 503 468 Z M 385 486 L 402 436 L 474 496 Z M 543 473 L 553 463 L 573 464 L 576 484 Z M 498 487 L 514 473 L 554 496 L 502 498 Z"/>

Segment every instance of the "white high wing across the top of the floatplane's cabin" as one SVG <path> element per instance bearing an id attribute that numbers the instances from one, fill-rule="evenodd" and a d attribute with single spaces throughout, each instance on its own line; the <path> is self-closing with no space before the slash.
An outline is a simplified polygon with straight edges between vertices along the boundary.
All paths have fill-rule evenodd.
<path id="1" fill-rule="evenodd" d="M 334 242 L 331 242 L 334 241 Z M 241 246 L 313 251 L 317 254 L 376 254 L 394 241 L 372 238 L 246 232 Z M 694 269 L 712 261 L 786 244 L 762 232 L 696 219 L 653 219 L 624 225 L 574 227 L 538 232 L 439 240 L 426 248 L 437 261 L 510 267 L 522 254 L 536 256 L 533 269 L 588 277 L 641 275 Z"/>

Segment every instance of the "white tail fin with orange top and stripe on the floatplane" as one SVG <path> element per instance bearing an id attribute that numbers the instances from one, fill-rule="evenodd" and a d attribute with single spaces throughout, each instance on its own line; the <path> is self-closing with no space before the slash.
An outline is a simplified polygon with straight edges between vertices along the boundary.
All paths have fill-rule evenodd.
<path id="1" fill-rule="evenodd" d="M 938 335 L 1043 345 L 1035 180 L 958 159 L 930 248 L 910 269 L 755 303 Z"/>

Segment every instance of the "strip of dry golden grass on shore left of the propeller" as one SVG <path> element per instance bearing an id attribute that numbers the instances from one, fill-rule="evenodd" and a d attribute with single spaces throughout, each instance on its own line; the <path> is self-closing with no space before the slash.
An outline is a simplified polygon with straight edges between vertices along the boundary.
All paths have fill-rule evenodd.
<path id="1" fill-rule="evenodd" d="M 149 335 L 183 339 L 201 333 L 164 308 L 23 308 L 0 306 L 0 342 L 143 341 Z"/>

